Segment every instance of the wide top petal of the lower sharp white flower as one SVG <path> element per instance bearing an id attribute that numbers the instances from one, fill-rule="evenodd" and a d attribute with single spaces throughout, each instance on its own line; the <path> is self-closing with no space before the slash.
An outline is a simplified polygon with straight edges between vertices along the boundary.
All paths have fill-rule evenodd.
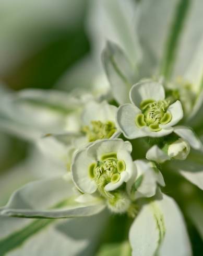
<path id="1" fill-rule="evenodd" d="M 95 143 L 92 143 L 88 147 L 88 156 L 100 160 L 101 156 L 106 153 L 115 152 L 124 149 L 127 152 L 132 152 L 132 144 L 128 141 L 124 142 L 120 138 L 115 139 L 101 139 Z"/>

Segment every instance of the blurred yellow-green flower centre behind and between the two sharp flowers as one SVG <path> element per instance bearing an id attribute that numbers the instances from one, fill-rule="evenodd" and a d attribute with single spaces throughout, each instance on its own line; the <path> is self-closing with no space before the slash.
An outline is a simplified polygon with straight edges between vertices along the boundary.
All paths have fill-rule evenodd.
<path id="1" fill-rule="evenodd" d="M 110 138 L 116 132 L 116 126 L 112 121 L 91 121 L 91 125 L 82 128 L 89 142 L 97 141 L 97 139 Z"/>

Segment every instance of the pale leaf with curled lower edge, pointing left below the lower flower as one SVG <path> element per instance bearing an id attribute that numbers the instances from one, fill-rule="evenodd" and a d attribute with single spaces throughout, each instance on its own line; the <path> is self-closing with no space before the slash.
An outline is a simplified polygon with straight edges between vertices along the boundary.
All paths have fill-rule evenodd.
<path id="1" fill-rule="evenodd" d="M 34 181 L 14 192 L 7 205 L 0 208 L 0 215 L 23 218 L 80 217 L 96 214 L 105 207 L 97 198 L 86 204 L 77 203 L 77 196 L 74 184 L 68 178 Z"/>

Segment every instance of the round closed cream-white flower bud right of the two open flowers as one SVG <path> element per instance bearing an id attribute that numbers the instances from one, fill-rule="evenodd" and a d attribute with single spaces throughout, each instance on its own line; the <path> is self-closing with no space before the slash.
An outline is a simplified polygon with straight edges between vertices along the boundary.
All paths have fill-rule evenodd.
<path id="1" fill-rule="evenodd" d="M 168 149 L 169 157 L 177 160 L 185 160 L 190 152 L 189 143 L 183 138 L 177 139 L 173 142 Z"/>

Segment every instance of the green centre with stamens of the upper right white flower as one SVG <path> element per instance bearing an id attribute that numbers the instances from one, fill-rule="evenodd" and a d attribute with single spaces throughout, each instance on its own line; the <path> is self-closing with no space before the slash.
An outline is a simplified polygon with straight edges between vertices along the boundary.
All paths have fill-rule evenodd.
<path id="1" fill-rule="evenodd" d="M 167 100 L 143 100 L 140 103 L 142 113 L 136 115 L 135 118 L 136 125 L 139 128 L 149 126 L 149 129 L 153 132 L 160 131 L 160 124 L 167 124 L 171 121 L 171 113 L 166 112 L 169 106 L 170 101 Z"/>

